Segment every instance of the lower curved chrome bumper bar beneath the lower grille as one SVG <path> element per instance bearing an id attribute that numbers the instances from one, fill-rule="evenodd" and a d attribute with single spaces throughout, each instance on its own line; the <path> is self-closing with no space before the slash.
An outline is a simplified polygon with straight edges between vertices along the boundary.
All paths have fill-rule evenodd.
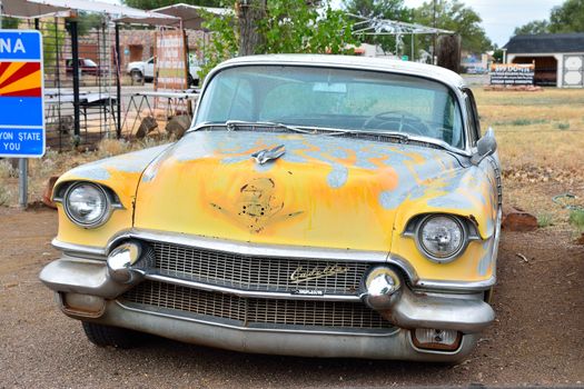
<path id="1" fill-rule="evenodd" d="M 99 319 L 88 320 L 234 351 L 318 358 L 452 362 L 471 353 L 478 339 L 477 335 L 463 336 L 456 351 L 420 350 L 414 346 L 410 331 L 404 329 L 387 335 L 246 329 L 143 311 L 117 301 L 107 301 L 105 313 Z"/>

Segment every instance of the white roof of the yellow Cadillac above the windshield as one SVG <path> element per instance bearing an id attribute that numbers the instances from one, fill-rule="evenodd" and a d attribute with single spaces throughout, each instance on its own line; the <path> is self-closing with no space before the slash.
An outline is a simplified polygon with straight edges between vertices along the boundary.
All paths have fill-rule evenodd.
<path id="1" fill-rule="evenodd" d="M 465 86 L 464 79 L 448 69 L 433 64 L 399 61 L 387 58 L 331 54 L 246 56 L 227 60 L 220 63 L 218 66 L 218 69 L 237 64 L 298 64 L 317 67 L 340 67 L 419 76 L 446 83 L 453 88 L 463 88 Z"/>

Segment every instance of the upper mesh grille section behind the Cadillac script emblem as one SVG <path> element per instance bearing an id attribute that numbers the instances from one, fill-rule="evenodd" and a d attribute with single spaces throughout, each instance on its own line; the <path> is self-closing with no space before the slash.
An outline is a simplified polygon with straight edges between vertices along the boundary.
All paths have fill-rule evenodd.
<path id="1" fill-rule="evenodd" d="M 242 290 L 291 292 L 309 289 L 325 293 L 353 295 L 369 267 L 365 262 L 254 257 L 166 242 L 151 245 L 160 273 Z M 347 271 L 298 283 L 290 279 L 299 267 L 303 271 L 310 271 L 324 270 L 327 266 L 339 266 L 347 268 Z"/>

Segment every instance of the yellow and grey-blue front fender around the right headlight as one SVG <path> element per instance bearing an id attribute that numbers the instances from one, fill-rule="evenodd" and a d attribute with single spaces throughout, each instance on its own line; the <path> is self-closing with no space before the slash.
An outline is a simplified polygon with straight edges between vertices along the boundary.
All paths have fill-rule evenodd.
<path id="1" fill-rule="evenodd" d="M 494 280 L 498 198 L 489 174 L 487 168 L 474 166 L 447 172 L 418 184 L 398 208 L 392 255 L 415 263 L 420 283 L 428 280 L 486 285 Z M 413 218 L 425 213 L 466 218 L 481 239 L 471 241 L 464 253 L 452 262 L 433 262 L 419 252 L 415 237 L 404 233 Z"/>

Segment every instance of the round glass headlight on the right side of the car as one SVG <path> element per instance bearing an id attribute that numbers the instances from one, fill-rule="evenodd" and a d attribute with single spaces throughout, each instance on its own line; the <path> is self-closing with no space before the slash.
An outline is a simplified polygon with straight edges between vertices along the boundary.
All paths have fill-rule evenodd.
<path id="1" fill-rule="evenodd" d="M 417 241 L 426 257 L 437 262 L 448 262 L 464 249 L 466 230 L 458 218 L 430 215 L 419 223 Z"/>

